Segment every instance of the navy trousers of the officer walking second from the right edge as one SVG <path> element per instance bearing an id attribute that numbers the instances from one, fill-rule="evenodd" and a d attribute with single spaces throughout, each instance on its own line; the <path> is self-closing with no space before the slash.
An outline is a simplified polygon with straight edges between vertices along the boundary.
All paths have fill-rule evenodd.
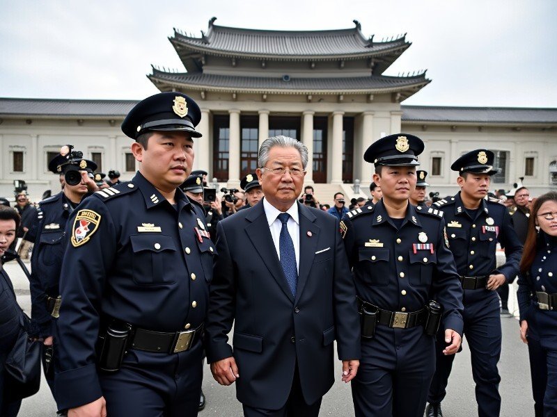
<path id="1" fill-rule="evenodd" d="M 499 370 L 497 363 L 501 356 L 501 315 L 499 297 L 490 292 L 481 300 L 464 304 L 464 337 L 470 348 L 472 376 L 476 382 L 478 416 L 499 416 L 501 395 L 499 395 Z M 437 366 L 430 386 L 427 402 L 439 404 L 446 395 L 446 386 L 455 355 L 445 356 L 444 334 L 437 335 Z"/>

